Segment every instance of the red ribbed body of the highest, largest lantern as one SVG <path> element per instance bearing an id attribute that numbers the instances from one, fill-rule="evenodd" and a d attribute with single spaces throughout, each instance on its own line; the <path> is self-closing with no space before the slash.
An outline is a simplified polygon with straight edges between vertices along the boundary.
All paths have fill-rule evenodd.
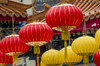
<path id="1" fill-rule="evenodd" d="M 46 22 L 51 27 L 79 26 L 82 23 L 83 14 L 78 7 L 63 4 L 52 7 L 46 13 Z"/>

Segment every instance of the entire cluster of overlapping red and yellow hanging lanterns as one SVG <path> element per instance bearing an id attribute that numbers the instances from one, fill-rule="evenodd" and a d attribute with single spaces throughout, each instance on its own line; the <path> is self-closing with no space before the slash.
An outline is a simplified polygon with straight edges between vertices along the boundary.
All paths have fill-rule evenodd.
<path id="1" fill-rule="evenodd" d="M 37 66 L 39 66 L 40 46 L 52 39 L 52 29 L 55 29 L 62 31 L 65 48 L 60 51 L 51 49 L 43 53 L 41 66 L 62 66 L 62 64 L 72 66 L 82 59 L 86 65 L 89 63 L 88 56 L 93 54 L 94 62 L 99 66 L 100 30 L 97 31 L 95 38 L 83 35 L 75 39 L 72 46 L 67 47 L 68 31 L 78 27 L 83 21 L 82 11 L 78 7 L 72 4 L 56 5 L 48 10 L 45 19 L 46 23 L 27 24 L 20 29 L 19 35 L 9 35 L 2 39 L 0 64 L 17 62 L 19 55 L 26 53 L 30 46 L 34 46 L 34 54 L 37 55 Z"/>

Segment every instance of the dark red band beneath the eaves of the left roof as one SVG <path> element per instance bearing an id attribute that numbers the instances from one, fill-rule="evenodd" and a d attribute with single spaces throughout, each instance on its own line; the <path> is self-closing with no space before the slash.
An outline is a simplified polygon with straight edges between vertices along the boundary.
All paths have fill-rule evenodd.
<path id="1" fill-rule="evenodd" d="M 10 17 L 8 15 L 6 15 L 5 17 L 0 15 L 0 20 L 10 20 L 10 21 L 12 21 L 12 17 Z M 14 16 L 14 21 L 27 21 L 27 17 L 23 18 L 21 16 L 19 16 L 19 17 Z"/>

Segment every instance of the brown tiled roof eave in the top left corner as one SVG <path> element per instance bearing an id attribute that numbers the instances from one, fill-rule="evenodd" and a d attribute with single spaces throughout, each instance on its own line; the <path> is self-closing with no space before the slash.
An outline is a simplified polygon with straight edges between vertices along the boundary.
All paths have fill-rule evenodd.
<path id="1" fill-rule="evenodd" d="M 0 15 L 12 17 L 12 14 L 14 14 L 17 18 L 25 18 L 27 17 L 26 10 L 30 7 L 32 7 L 32 4 L 24 4 L 14 0 L 0 0 Z"/>

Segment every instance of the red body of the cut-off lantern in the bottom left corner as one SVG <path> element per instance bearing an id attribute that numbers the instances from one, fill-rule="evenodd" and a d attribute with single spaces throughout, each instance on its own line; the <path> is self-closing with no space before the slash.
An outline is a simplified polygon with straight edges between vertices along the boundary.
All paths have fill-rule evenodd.
<path id="1" fill-rule="evenodd" d="M 5 55 L 3 52 L 0 51 L 0 64 L 1 63 L 12 63 L 12 57 Z"/>

